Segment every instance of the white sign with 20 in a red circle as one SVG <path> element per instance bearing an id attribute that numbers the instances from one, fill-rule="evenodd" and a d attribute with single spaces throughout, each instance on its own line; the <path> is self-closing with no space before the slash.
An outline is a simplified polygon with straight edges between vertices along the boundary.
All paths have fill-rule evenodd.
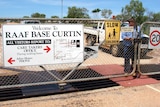
<path id="1" fill-rule="evenodd" d="M 150 27 L 150 37 L 149 37 L 149 49 L 159 49 L 160 48 L 160 28 Z"/>

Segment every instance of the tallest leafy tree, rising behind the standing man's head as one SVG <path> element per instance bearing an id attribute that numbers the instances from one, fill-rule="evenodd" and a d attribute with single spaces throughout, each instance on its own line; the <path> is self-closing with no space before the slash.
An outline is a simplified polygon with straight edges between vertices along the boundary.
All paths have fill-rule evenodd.
<path id="1" fill-rule="evenodd" d="M 139 0 L 131 0 L 129 5 L 126 5 L 121 10 L 123 20 L 127 18 L 134 17 L 138 24 L 141 24 L 144 20 L 145 9 L 142 2 Z"/>

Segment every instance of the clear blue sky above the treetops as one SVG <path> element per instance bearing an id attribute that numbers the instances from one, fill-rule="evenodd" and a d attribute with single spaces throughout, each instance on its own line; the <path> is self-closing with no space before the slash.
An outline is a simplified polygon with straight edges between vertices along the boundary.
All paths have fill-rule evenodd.
<path id="1" fill-rule="evenodd" d="M 160 0 L 140 1 L 148 11 L 160 12 Z M 122 7 L 129 3 L 130 0 L 0 0 L 0 17 L 21 18 L 36 12 L 45 14 L 46 18 L 54 15 L 62 17 L 67 15 L 68 7 L 72 6 L 88 9 L 91 17 L 94 17 L 92 10 L 96 8 L 110 9 L 112 15 L 117 15 L 121 13 Z"/>

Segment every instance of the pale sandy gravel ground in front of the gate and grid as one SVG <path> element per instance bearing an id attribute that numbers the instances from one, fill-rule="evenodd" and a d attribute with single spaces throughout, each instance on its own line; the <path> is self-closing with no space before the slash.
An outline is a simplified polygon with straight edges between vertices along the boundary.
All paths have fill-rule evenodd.
<path id="1" fill-rule="evenodd" d="M 160 107 L 160 84 L 104 88 L 0 102 L 0 107 Z"/>

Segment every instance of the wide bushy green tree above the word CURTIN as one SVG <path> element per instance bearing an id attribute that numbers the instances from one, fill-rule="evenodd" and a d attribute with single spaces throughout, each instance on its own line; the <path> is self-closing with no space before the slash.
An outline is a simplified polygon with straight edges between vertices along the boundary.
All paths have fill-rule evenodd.
<path id="1" fill-rule="evenodd" d="M 86 8 L 78 8 L 76 6 L 68 7 L 67 18 L 89 18 Z"/>

